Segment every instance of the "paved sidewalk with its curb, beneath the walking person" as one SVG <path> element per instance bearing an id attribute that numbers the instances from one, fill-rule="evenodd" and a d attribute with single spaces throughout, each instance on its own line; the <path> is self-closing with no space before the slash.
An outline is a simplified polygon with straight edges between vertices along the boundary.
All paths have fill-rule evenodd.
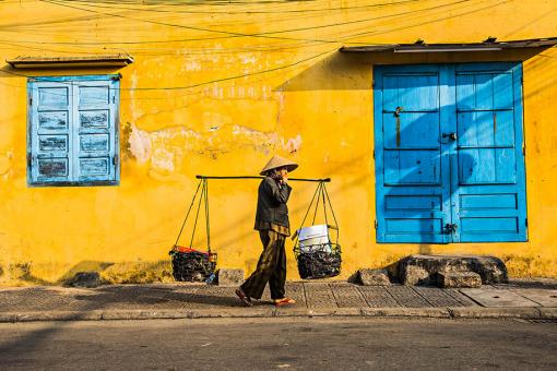
<path id="1" fill-rule="evenodd" d="M 0 322 L 325 315 L 557 321 L 556 279 L 513 279 L 478 289 L 293 282 L 286 292 L 297 303 L 278 309 L 269 291 L 244 308 L 234 289 L 204 284 L 0 288 Z"/>

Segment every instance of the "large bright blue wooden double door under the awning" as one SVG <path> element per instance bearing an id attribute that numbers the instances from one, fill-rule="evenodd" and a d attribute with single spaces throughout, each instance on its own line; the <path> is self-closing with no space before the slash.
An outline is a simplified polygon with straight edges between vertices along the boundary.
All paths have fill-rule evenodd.
<path id="1" fill-rule="evenodd" d="M 376 67 L 378 242 L 526 240 L 520 63 Z"/>

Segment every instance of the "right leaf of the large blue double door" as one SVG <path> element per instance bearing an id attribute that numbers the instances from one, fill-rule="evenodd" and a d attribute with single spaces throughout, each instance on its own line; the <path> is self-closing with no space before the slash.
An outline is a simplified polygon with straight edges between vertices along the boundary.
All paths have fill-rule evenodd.
<path id="1" fill-rule="evenodd" d="M 526 240 L 519 63 L 457 67 L 460 242 Z"/>

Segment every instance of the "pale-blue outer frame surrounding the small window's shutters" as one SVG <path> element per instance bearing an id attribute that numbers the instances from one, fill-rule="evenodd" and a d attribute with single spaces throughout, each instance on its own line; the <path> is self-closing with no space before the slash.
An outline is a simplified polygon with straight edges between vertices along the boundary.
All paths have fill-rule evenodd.
<path id="1" fill-rule="evenodd" d="M 120 184 L 120 79 L 121 74 L 94 74 L 94 75 L 50 75 L 50 76 L 32 76 L 27 79 L 27 135 L 26 135 L 26 151 L 27 151 L 27 187 L 31 188 L 40 188 L 40 187 L 102 187 L 102 185 L 119 185 Z M 105 81 L 105 82 L 114 82 L 116 83 L 116 87 L 109 86 L 109 89 L 115 88 L 116 92 L 114 94 L 114 113 L 109 115 L 110 118 L 114 119 L 114 124 L 109 124 L 109 144 L 114 146 L 114 156 L 109 163 L 109 166 L 114 168 L 114 179 L 110 180 L 60 180 L 60 181 L 45 181 L 45 180 L 34 180 L 33 179 L 33 168 L 34 166 L 38 166 L 33 163 L 33 105 L 37 105 L 38 103 L 33 101 L 33 89 L 36 88 L 35 84 L 40 82 L 51 82 L 51 83 L 67 83 L 72 85 L 73 82 L 83 83 L 83 82 L 93 82 L 93 81 Z M 72 112 L 78 109 L 76 107 L 72 107 Z M 109 118 L 109 119 L 110 119 Z M 72 130 L 76 122 L 71 121 L 69 124 L 70 131 Z M 110 132 L 110 127 L 114 128 L 114 135 Z M 73 136 L 70 140 L 73 142 Z M 79 160 L 74 154 L 69 155 L 69 166 L 73 166 L 75 160 Z"/>

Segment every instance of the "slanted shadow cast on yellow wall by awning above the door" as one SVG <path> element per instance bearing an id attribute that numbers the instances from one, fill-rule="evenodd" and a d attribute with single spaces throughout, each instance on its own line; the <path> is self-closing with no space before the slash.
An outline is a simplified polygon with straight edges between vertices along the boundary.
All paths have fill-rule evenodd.
<path id="1" fill-rule="evenodd" d="M 393 53 L 335 51 L 276 86 L 274 92 L 371 91 L 374 64 L 526 61 L 548 49 L 501 51 Z M 556 77 L 557 79 L 557 77 Z"/>

